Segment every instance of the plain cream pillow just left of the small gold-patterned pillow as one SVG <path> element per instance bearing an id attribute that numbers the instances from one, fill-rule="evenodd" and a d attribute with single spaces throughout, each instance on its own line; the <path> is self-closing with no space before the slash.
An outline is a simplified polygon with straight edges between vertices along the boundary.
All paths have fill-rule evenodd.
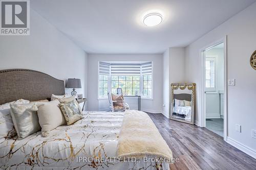
<path id="1" fill-rule="evenodd" d="M 57 128 L 60 125 L 65 125 L 66 120 L 61 110 L 59 109 L 59 101 L 36 103 L 38 110 L 38 120 L 42 132 L 42 136 L 47 137 L 49 131 Z"/>

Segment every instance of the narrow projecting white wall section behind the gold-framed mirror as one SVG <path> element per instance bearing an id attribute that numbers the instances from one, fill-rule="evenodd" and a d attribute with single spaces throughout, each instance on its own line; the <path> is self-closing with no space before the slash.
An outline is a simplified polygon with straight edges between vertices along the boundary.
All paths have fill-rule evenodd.
<path id="1" fill-rule="evenodd" d="M 170 47 L 163 54 L 163 114 L 169 117 L 170 84 L 185 83 L 185 48 Z"/>

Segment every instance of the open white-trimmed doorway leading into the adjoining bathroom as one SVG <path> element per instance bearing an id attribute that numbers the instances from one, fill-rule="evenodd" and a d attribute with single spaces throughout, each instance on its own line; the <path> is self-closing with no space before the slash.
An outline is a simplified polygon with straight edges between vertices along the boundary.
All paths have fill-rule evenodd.
<path id="1" fill-rule="evenodd" d="M 201 51 L 201 125 L 226 141 L 226 41 Z"/>

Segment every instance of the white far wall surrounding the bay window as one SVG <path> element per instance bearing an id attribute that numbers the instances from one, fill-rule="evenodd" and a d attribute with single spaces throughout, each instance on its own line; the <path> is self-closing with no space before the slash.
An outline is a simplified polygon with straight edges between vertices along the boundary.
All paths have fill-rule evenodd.
<path id="1" fill-rule="evenodd" d="M 106 110 L 108 100 L 98 100 L 98 62 L 99 61 L 152 61 L 153 62 L 153 98 L 141 99 L 141 110 L 162 112 L 162 54 L 89 54 L 88 105 L 89 110 Z M 137 100 L 136 98 L 133 100 Z M 125 99 L 129 103 L 129 100 Z M 132 101 L 131 101 L 132 102 Z"/>

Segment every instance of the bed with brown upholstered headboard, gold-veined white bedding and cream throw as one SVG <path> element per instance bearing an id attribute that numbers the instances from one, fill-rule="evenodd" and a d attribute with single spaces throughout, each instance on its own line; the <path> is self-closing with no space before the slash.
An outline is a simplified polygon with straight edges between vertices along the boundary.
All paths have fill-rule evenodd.
<path id="1" fill-rule="evenodd" d="M 63 81 L 35 70 L 2 70 L 0 80 L 0 104 L 65 94 Z M 83 119 L 48 137 L 38 131 L 0 139 L 1 169 L 169 169 L 172 161 L 154 123 L 140 111 L 83 112 Z"/>

